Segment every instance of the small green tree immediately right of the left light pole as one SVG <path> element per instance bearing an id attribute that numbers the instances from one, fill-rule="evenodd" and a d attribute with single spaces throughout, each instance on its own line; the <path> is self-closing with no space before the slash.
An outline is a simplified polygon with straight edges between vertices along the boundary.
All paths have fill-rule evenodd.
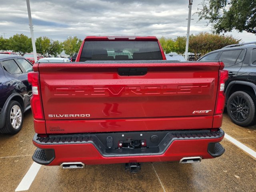
<path id="1" fill-rule="evenodd" d="M 36 52 L 41 53 L 44 57 L 57 56 L 62 52 L 62 44 L 46 36 L 39 37 L 36 39 Z"/>

